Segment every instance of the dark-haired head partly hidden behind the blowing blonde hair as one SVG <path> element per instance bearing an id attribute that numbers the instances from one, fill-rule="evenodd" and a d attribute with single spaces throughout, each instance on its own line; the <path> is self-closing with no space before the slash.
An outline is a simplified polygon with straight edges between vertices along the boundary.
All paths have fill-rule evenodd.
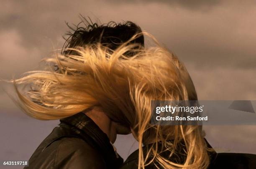
<path id="1" fill-rule="evenodd" d="M 70 27 L 70 29 L 72 32 L 69 31 L 67 33 L 68 37 L 61 51 L 62 55 L 79 55 L 79 53 L 73 49 L 89 45 L 97 46 L 99 44 L 101 47 L 105 47 L 108 53 L 112 53 L 120 47 L 120 45 L 125 43 L 127 45 L 135 45 L 130 51 L 124 53 L 125 56 L 132 57 L 135 55 L 136 50 L 143 49 L 144 47 L 144 37 L 142 34 L 138 35 L 142 30 L 131 21 L 124 23 L 115 23 L 112 21 L 108 24 L 99 25 L 98 23 L 93 23 L 91 20 L 88 21 L 83 18 L 82 22 L 75 28 Z M 59 70 L 58 65 L 55 65 L 55 70 Z M 90 116 L 92 117 L 93 114 L 90 114 Z M 112 123 L 115 124 L 112 126 L 115 126 L 117 134 L 131 133 L 130 127 L 123 126 L 118 122 Z"/>

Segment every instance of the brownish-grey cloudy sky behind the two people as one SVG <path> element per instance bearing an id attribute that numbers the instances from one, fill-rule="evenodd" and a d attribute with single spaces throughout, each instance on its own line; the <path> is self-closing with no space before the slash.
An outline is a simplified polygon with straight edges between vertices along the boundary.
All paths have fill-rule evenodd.
<path id="1" fill-rule="evenodd" d="M 201 100 L 256 100 L 252 0 L 2 0 L 0 78 L 36 70 L 42 58 L 62 47 L 65 22 L 77 24 L 79 14 L 102 23 L 136 22 L 185 63 Z M 3 91 L 12 94 L 12 85 L 0 82 L 0 88 L 0 159 L 28 159 L 58 122 L 27 117 Z M 208 126 L 205 131 L 218 151 L 256 154 L 256 126 Z M 125 148 L 124 140 L 129 140 Z M 131 136 L 118 137 L 115 145 L 124 158 L 133 142 Z"/>

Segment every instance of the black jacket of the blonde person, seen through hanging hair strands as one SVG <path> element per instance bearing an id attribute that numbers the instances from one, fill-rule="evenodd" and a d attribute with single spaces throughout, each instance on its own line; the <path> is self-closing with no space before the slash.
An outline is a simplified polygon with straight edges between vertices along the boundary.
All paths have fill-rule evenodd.
<path id="1" fill-rule="evenodd" d="M 206 140 L 205 140 L 206 141 Z M 212 148 L 210 144 L 206 141 L 207 146 Z M 161 149 L 161 143 L 158 144 Z M 148 152 L 148 148 L 151 147 L 151 144 L 143 147 L 144 157 Z M 184 147 L 183 147 L 184 148 Z M 186 156 L 182 146 L 177 147 L 179 154 L 174 154 L 171 159 L 173 162 L 184 163 Z M 168 159 L 169 153 L 163 152 L 161 156 Z M 255 154 L 241 154 L 241 153 L 209 153 L 210 156 L 210 165 L 208 169 L 256 169 L 256 155 Z M 150 158 L 149 158 L 150 160 Z M 155 163 L 160 169 L 162 167 Z M 156 169 L 154 163 L 149 164 L 145 169 Z M 138 150 L 133 152 L 124 162 L 123 166 L 120 169 L 138 169 Z"/>

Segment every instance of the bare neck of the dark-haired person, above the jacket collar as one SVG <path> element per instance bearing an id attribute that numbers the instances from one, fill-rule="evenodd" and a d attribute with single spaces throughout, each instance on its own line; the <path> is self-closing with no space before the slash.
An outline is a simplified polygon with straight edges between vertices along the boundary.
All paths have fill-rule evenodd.
<path id="1" fill-rule="evenodd" d="M 92 119 L 98 127 L 107 134 L 110 142 L 114 143 L 116 139 L 116 127 L 112 120 L 100 109 L 100 107 L 93 107 L 89 111 L 82 111 L 90 119 Z"/>

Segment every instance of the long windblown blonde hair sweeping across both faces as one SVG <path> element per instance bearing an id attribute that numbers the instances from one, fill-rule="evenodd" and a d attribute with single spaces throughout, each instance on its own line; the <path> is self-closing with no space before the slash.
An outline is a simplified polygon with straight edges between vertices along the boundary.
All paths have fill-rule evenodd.
<path id="1" fill-rule="evenodd" d="M 155 45 L 141 49 L 129 44 L 140 35 L 153 39 Z M 139 142 L 138 168 L 151 162 L 162 168 L 207 168 L 209 157 L 201 126 L 151 125 L 151 100 L 197 99 L 192 80 L 178 58 L 161 47 L 146 32 L 134 35 L 130 41 L 110 50 L 101 44 L 85 45 L 74 50 L 78 55 L 56 54 L 46 63 L 57 65 L 58 71 L 27 72 L 12 80 L 18 94 L 18 105 L 28 115 L 42 120 L 61 119 L 84 109 L 100 105 L 113 121 L 131 127 Z M 139 50 L 140 49 L 140 50 Z M 125 53 L 134 52 L 127 57 Z M 20 92 L 19 84 L 31 85 Z M 168 140 L 174 139 L 173 142 Z M 163 147 L 152 146 L 143 154 L 147 140 L 161 141 Z M 162 157 L 177 154 L 183 142 L 184 163 Z M 153 158 L 150 158 L 153 157 Z"/>

